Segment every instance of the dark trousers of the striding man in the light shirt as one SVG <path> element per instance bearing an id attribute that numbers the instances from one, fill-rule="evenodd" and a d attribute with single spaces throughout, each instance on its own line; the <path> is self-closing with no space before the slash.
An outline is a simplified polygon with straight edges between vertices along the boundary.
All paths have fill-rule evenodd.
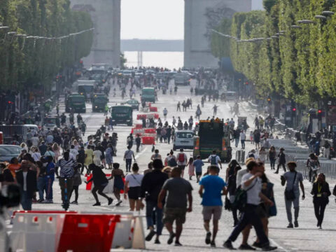
<path id="1" fill-rule="evenodd" d="M 257 233 L 257 236 L 260 240 L 260 244 L 262 246 L 266 246 L 269 244 L 269 240 L 267 236 L 265 235 L 264 230 L 262 229 L 262 223 L 261 220 L 256 213 L 256 209 L 258 206 L 247 204 L 246 209 L 244 210 L 243 214 L 241 215 L 239 223 L 236 225 L 235 229 L 232 231 L 229 240 L 235 241 L 240 234 L 241 231 L 244 230 L 246 225 L 252 224 L 253 228 L 255 229 L 255 232 Z"/>

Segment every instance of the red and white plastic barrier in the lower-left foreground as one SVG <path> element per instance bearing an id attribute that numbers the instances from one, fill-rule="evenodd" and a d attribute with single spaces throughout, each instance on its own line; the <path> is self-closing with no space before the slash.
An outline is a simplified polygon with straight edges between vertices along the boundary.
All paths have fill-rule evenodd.
<path id="1" fill-rule="evenodd" d="M 133 213 L 17 213 L 10 232 L 13 251 L 108 252 L 144 249 L 141 216 Z"/>

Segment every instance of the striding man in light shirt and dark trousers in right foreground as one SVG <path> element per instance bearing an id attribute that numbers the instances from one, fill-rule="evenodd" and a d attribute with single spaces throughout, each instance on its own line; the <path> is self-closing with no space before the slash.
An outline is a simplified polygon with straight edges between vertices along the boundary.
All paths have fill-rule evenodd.
<path id="1" fill-rule="evenodd" d="M 250 161 L 247 164 L 248 174 L 245 174 L 241 180 L 241 188 L 246 191 L 246 206 L 242 209 L 241 218 L 235 229 L 232 231 L 230 237 L 225 241 L 225 248 L 234 249 L 232 242 L 235 241 L 239 233 L 251 224 L 255 228 L 255 232 L 260 240 L 262 251 L 272 251 L 276 249 L 275 246 L 269 245 L 269 239 L 265 235 L 262 228 L 262 222 L 258 216 L 257 209 L 260 204 L 260 199 L 266 204 L 273 205 L 274 203 L 261 193 L 262 183 L 260 177 L 262 176 L 262 169 L 255 161 Z M 239 249 L 251 249 L 248 244 L 241 244 Z M 253 249 L 253 248 L 252 248 Z"/>

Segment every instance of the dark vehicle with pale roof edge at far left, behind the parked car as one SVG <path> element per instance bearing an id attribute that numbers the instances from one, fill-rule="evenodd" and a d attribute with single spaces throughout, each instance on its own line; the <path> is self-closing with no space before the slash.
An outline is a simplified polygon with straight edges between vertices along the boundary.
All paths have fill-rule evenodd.
<path id="1" fill-rule="evenodd" d="M 0 125 L 0 132 L 3 134 L 3 143 L 10 144 L 14 140 L 13 136 L 18 138 L 19 142 L 27 143 L 27 133 L 33 135 L 38 132 L 37 125 Z"/>

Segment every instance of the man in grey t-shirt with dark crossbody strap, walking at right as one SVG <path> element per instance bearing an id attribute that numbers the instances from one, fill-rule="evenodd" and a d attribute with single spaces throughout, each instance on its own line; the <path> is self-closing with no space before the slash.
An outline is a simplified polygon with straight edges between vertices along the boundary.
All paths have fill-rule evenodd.
<path id="1" fill-rule="evenodd" d="M 286 204 L 286 212 L 288 219 L 287 228 L 293 228 L 292 222 L 292 204 L 294 207 L 294 226 L 297 228 L 299 223 L 297 219 L 299 218 L 299 204 L 300 204 L 300 188 L 302 190 L 302 200 L 304 200 L 304 186 L 303 186 L 303 176 L 302 173 L 295 171 L 296 163 L 288 162 L 287 167 L 289 172 L 285 172 L 281 176 L 281 186 L 285 186 L 285 204 Z"/>

